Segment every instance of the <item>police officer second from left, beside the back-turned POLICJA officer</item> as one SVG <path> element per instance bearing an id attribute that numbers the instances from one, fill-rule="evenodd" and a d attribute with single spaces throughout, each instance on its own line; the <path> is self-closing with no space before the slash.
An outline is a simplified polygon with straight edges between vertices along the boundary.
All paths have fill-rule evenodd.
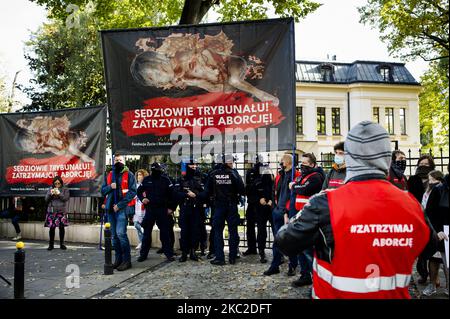
<path id="1" fill-rule="evenodd" d="M 182 163 L 186 169 L 182 169 L 182 177 L 175 184 L 175 196 L 180 205 L 179 226 L 181 228 L 180 262 L 185 262 L 189 258 L 198 261 L 195 254 L 200 240 L 201 214 L 204 214 L 203 203 L 197 195 L 204 190 L 202 177 L 197 170 L 197 164 L 193 159 Z"/>

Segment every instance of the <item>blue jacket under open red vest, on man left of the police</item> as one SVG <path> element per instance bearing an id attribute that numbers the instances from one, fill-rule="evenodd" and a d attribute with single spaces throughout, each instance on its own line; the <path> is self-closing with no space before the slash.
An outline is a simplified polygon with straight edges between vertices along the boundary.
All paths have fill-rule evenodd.
<path id="1" fill-rule="evenodd" d="M 128 193 L 126 193 L 125 197 L 122 196 L 122 176 L 123 173 L 128 172 Z M 114 178 L 117 184 L 116 192 L 113 192 L 113 189 L 111 188 L 111 185 L 107 182 L 108 174 L 105 174 L 105 177 L 103 178 L 103 185 L 102 185 L 102 195 L 106 196 L 106 211 L 112 212 L 114 202 L 117 203 L 117 206 L 120 210 L 126 208 L 128 206 L 128 203 L 132 201 L 137 194 L 136 189 L 136 177 L 134 177 L 134 174 L 131 173 L 128 169 L 128 167 L 124 167 L 122 172 L 117 176 L 117 174 L 114 173 Z M 114 195 L 115 193 L 115 195 Z"/>

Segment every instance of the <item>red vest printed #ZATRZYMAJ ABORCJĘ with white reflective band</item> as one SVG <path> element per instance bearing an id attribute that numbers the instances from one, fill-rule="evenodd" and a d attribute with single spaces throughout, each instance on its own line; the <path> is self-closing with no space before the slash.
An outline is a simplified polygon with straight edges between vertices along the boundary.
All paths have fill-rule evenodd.
<path id="1" fill-rule="evenodd" d="M 383 180 L 326 192 L 334 257 L 314 258 L 313 297 L 409 299 L 413 263 L 430 236 L 419 202 Z"/>

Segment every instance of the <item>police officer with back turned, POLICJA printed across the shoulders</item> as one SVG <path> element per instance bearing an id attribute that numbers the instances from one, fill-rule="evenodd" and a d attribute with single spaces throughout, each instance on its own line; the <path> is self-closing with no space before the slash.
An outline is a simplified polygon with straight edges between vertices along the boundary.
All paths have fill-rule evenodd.
<path id="1" fill-rule="evenodd" d="M 239 246 L 239 213 L 237 205 L 239 196 L 244 195 L 245 187 L 241 176 L 233 170 L 233 156 L 225 155 L 224 164 L 214 170 L 208 179 L 202 198 L 213 196 L 215 212 L 213 216 L 215 259 L 213 265 L 225 265 L 223 253 L 223 229 L 225 220 L 228 223 L 230 253 L 230 264 L 236 263 Z"/>

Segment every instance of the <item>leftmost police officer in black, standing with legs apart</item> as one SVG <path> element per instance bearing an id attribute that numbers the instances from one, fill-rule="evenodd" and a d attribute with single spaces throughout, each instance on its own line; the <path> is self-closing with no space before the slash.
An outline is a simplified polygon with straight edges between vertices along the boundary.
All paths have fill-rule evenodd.
<path id="1" fill-rule="evenodd" d="M 169 261 L 175 260 L 173 248 L 169 238 L 169 216 L 173 211 L 170 202 L 174 199 L 173 184 L 167 176 L 163 175 L 161 164 L 154 162 L 151 165 L 151 174 L 144 178 L 142 185 L 138 188 L 138 197 L 145 205 L 145 216 L 142 221 L 144 237 L 138 262 L 147 259 L 150 250 L 153 225 L 160 231 L 162 249 Z"/>

